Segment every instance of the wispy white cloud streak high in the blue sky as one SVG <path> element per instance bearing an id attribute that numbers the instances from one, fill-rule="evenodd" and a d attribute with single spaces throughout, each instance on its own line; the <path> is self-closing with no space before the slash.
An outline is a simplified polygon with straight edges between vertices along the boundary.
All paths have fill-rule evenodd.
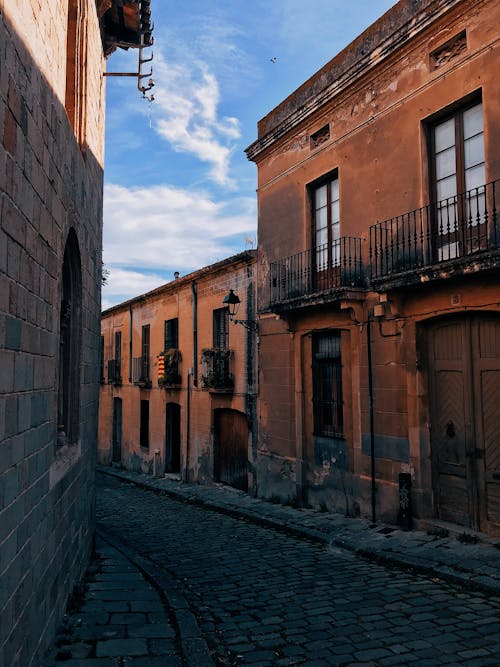
<path id="1" fill-rule="evenodd" d="M 219 117 L 219 85 L 207 65 L 155 60 L 155 130 L 174 150 L 190 153 L 210 167 L 210 178 L 232 186 L 229 161 L 240 137 L 237 118 Z"/>

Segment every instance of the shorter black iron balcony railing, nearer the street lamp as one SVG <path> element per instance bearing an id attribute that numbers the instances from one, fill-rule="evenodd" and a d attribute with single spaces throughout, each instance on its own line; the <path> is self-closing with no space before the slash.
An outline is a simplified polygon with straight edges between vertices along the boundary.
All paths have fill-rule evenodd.
<path id="1" fill-rule="evenodd" d="M 269 266 L 270 305 L 345 287 L 363 285 L 361 239 L 342 236 Z"/>

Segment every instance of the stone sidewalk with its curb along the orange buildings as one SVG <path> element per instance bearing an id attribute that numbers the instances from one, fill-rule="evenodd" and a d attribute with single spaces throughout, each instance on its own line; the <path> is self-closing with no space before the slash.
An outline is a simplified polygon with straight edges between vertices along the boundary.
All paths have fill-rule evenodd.
<path id="1" fill-rule="evenodd" d="M 98 471 L 156 493 L 307 537 L 330 548 L 343 548 L 364 558 L 422 572 L 440 579 L 500 594 L 500 539 L 452 527 L 402 531 L 396 526 L 371 524 L 340 514 L 296 509 L 270 503 L 230 487 L 187 484 L 128 470 L 98 466 Z"/>

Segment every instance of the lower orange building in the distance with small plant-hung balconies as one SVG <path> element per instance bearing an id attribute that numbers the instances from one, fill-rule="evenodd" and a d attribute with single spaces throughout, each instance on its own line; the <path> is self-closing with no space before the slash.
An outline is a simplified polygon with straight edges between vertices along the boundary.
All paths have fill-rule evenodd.
<path id="1" fill-rule="evenodd" d="M 254 268 L 240 253 L 102 314 L 101 463 L 253 487 Z"/>

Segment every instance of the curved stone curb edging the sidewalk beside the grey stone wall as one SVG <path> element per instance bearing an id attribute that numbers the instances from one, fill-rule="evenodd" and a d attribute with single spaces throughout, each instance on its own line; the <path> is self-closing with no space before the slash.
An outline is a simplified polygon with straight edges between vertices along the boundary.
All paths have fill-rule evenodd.
<path id="1" fill-rule="evenodd" d="M 96 534 L 104 542 L 122 553 L 137 567 L 144 577 L 156 588 L 171 609 L 180 640 L 180 648 L 187 667 L 215 667 L 207 643 L 201 635 L 196 617 L 191 612 L 182 595 L 177 581 L 165 570 L 139 556 L 109 533 L 104 535 L 99 528 Z"/>

